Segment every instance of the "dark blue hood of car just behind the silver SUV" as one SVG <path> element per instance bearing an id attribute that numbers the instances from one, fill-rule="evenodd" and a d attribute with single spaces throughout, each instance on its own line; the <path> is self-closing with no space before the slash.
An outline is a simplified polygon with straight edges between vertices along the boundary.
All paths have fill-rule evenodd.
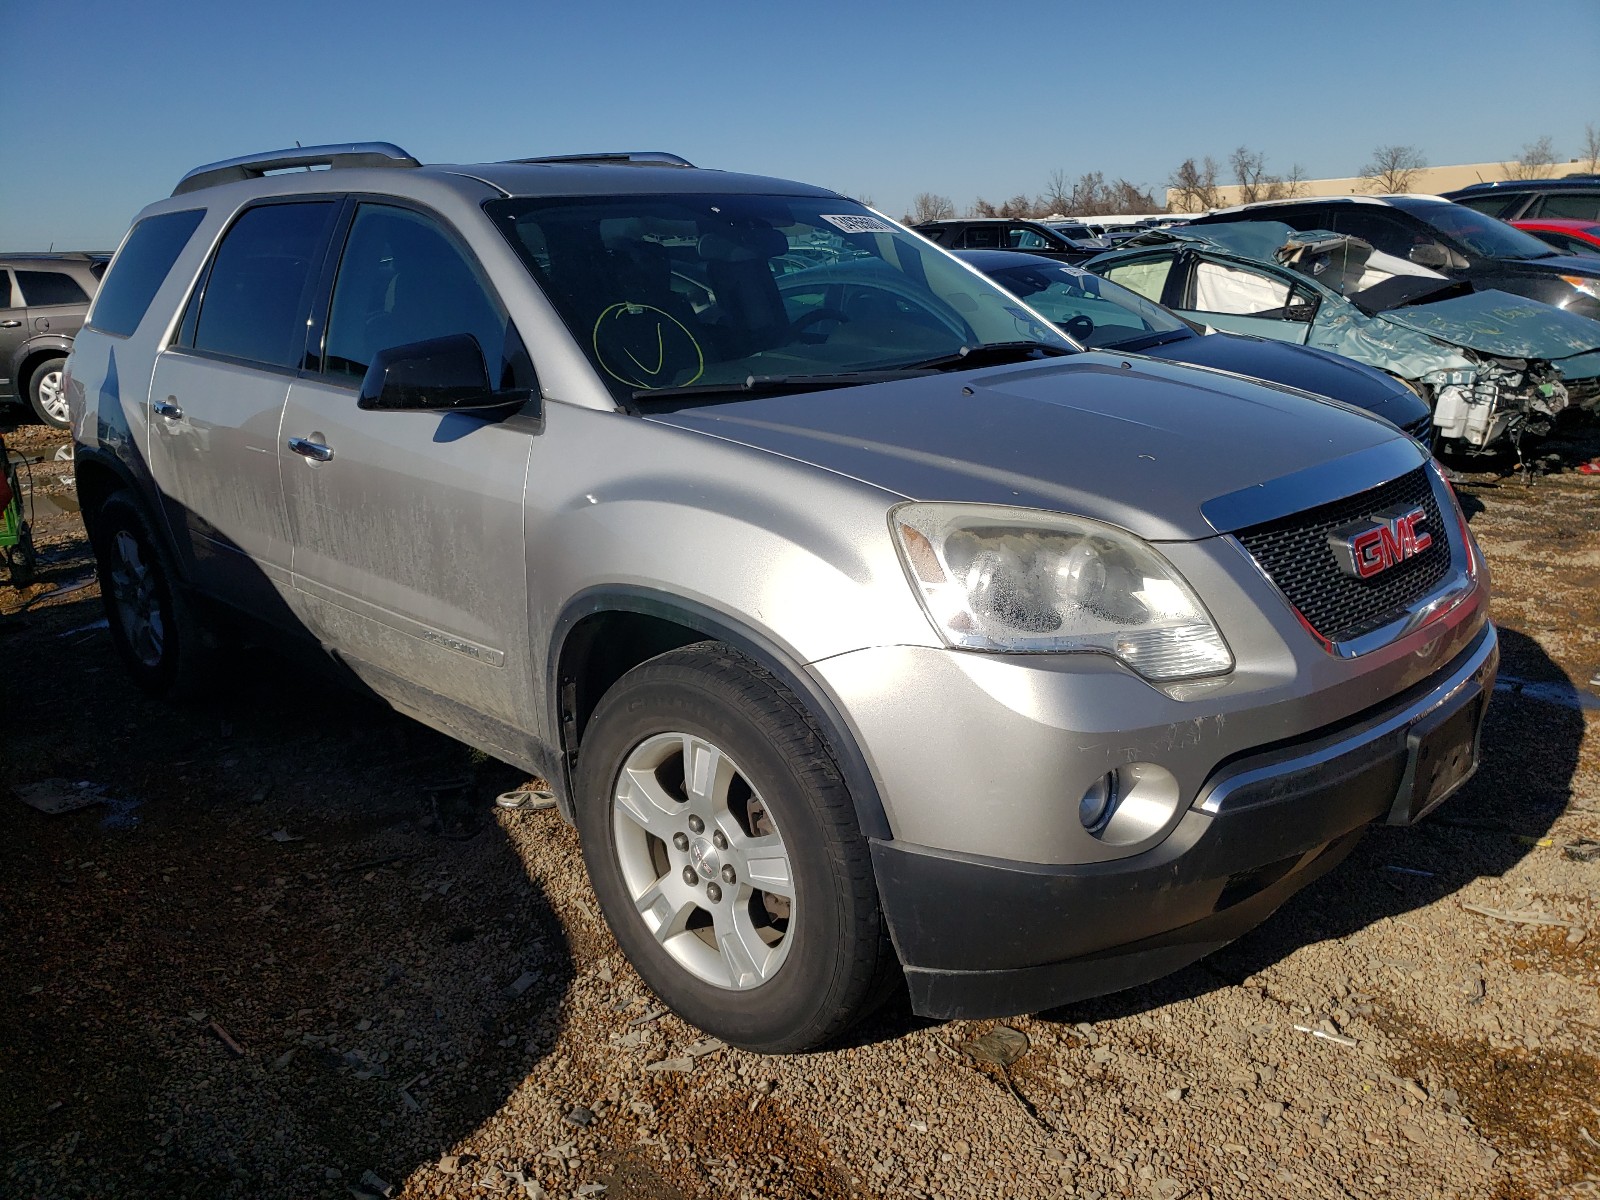
<path id="1" fill-rule="evenodd" d="M 1376 366 L 1312 346 L 1293 346 L 1238 333 L 1210 333 L 1203 338 L 1152 346 L 1141 354 L 1315 392 L 1363 408 L 1400 427 L 1422 421 L 1429 411 L 1416 392 Z"/>

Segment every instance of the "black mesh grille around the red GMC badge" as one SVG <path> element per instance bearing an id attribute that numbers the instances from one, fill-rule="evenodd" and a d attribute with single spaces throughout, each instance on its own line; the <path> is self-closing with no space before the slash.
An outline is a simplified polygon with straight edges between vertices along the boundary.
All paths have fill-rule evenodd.
<path id="1" fill-rule="evenodd" d="M 1421 507 L 1432 544 L 1371 579 L 1339 568 L 1328 534 L 1381 512 Z M 1429 486 L 1427 467 L 1333 504 L 1256 525 L 1235 534 L 1301 616 L 1330 642 L 1346 642 L 1392 621 L 1450 573 L 1450 538 Z"/>

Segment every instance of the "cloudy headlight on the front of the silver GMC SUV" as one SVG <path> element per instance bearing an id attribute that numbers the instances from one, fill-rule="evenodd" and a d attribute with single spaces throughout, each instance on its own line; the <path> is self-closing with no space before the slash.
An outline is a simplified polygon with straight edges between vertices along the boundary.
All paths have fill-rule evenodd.
<path id="1" fill-rule="evenodd" d="M 998 504 L 901 504 L 890 528 L 952 646 L 1110 654 L 1152 680 L 1234 669 L 1189 584 L 1125 530 Z"/>

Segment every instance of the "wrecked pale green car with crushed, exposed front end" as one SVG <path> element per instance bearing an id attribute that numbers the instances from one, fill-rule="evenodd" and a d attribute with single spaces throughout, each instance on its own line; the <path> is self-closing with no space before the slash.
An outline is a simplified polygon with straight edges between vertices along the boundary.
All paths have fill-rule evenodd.
<path id="1" fill-rule="evenodd" d="M 1277 221 L 1178 226 L 1083 264 L 1192 322 L 1318 346 L 1406 382 L 1435 446 L 1522 454 L 1570 405 L 1600 405 L 1600 322 L 1474 291 L 1341 234 Z"/>

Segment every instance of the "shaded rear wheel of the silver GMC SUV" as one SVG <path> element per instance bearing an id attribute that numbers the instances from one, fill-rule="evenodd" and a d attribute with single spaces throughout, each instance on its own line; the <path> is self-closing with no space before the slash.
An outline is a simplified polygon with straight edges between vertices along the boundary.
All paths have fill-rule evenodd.
<path id="1" fill-rule="evenodd" d="M 88 525 L 110 638 L 133 682 L 165 699 L 203 691 L 210 640 L 133 493 L 109 496 Z"/>

